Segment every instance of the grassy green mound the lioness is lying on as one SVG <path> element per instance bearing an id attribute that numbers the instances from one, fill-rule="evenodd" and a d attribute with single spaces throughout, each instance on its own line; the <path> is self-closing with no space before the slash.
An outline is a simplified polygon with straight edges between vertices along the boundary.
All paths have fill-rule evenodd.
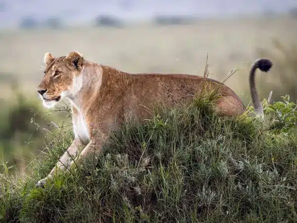
<path id="1" fill-rule="evenodd" d="M 0 218 L 295 222 L 297 131 L 284 118 L 218 117 L 210 101 L 195 100 L 156 112 L 143 124 L 125 123 L 96 162 L 89 157 L 73 172 L 60 172 L 45 189 L 36 188 L 71 143 L 71 135 L 59 134 L 43 161 L 28 167 L 27 177 L 1 175 Z"/>

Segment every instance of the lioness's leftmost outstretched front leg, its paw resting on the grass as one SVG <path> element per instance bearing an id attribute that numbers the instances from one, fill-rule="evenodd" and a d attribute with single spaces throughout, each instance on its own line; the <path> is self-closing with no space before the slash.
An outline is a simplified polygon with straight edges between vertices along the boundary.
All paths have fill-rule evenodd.
<path id="1" fill-rule="evenodd" d="M 46 180 L 49 178 L 52 178 L 53 174 L 57 171 L 57 169 L 61 169 L 61 170 L 64 170 L 65 168 L 68 169 L 73 158 L 77 156 L 78 151 L 80 150 L 80 147 L 84 147 L 84 146 L 85 145 L 80 139 L 78 138 L 74 139 L 74 141 L 69 146 L 67 151 L 60 157 L 55 167 L 53 167 L 52 170 L 49 172 L 48 176 L 39 180 L 36 183 L 36 186 L 44 187 Z"/>

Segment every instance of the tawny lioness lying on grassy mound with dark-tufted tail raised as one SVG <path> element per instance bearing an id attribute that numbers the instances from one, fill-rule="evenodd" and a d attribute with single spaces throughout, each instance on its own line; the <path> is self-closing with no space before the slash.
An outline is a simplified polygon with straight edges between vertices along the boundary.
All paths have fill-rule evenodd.
<path id="1" fill-rule="evenodd" d="M 55 168 L 68 169 L 89 152 L 98 155 L 109 131 L 118 128 L 126 116 L 132 114 L 143 120 L 149 117 L 153 105 L 180 105 L 192 99 L 205 82 L 208 83 L 208 90 L 221 85 L 218 94 L 222 97 L 214 101 L 218 114 L 240 115 L 246 110 L 229 87 L 200 76 L 130 74 L 88 61 L 78 52 L 57 58 L 46 53 L 44 62 L 47 66 L 38 93 L 46 108 L 53 107 L 62 98 L 70 100 L 75 139 L 49 175 L 37 182 L 37 186 L 44 186 Z M 263 114 L 263 109 L 255 88 L 255 70 L 259 68 L 267 72 L 271 66 L 269 59 L 260 58 L 250 69 L 251 97 L 255 110 L 260 114 Z M 77 155 L 80 147 L 83 149 Z M 75 160 L 69 155 L 76 157 Z"/>

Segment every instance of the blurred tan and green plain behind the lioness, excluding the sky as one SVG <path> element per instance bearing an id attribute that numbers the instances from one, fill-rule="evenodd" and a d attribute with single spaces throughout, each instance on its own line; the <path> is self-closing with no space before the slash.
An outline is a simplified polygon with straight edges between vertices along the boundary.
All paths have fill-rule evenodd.
<path id="1" fill-rule="evenodd" d="M 30 123 L 37 111 L 44 127 L 51 120 L 61 123 L 65 119 L 66 113 L 59 116 L 47 115 L 36 92 L 43 76 L 43 57 L 47 52 L 54 56 L 64 56 L 71 51 L 79 51 L 88 60 L 130 73 L 198 75 L 203 74 L 208 54 L 212 73 L 210 77 L 219 81 L 232 69 L 244 65 L 226 84 L 247 106 L 250 102 L 248 69 L 251 62 L 259 56 L 269 57 L 274 62 L 271 72 L 257 75 L 256 84 L 261 99 L 267 98 L 271 90 L 275 100 L 286 94 L 290 94 L 293 99 L 297 98 L 296 25 L 297 19 L 278 17 L 199 20 L 192 25 L 178 26 L 139 24 L 124 28 L 2 30 L 0 158 L 10 164 L 24 160 L 22 165 L 17 166 L 23 169 L 30 159 L 40 153 L 38 150 L 42 150 L 46 131 L 41 133 L 40 129 L 37 130 Z M 11 83 L 18 90 L 12 89 Z M 21 94 L 20 97 L 16 96 L 17 92 Z M 27 110 L 20 110 L 20 107 Z M 36 112 L 32 112 L 30 108 Z M 12 117 L 13 120 L 18 120 L 16 126 L 12 124 L 10 117 L 13 111 L 19 118 Z M 16 131 L 17 125 L 24 123 L 26 126 Z"/>

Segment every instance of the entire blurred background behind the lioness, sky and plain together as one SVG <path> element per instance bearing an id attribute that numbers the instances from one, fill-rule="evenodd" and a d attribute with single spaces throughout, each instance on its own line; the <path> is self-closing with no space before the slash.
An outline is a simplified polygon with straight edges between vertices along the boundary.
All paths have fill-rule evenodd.
<path id="1" fill-rule="evenodd" d="M 0 160 L 12 172 L 50 143 L 55 124 L 71 124 L 67 102 L 48 111 L 36 92 L 44 54 L 71 51 L 130 73 L 193 75 L 208 55 L 218 81 L 243 66 L 226 84 L 246 106 L 249 66 L 265 56 L 274 66 L 257 73 L 261 100 L 273 90 L 274 101 L 296 102 L 297 1 L 0 0 Z"/>

